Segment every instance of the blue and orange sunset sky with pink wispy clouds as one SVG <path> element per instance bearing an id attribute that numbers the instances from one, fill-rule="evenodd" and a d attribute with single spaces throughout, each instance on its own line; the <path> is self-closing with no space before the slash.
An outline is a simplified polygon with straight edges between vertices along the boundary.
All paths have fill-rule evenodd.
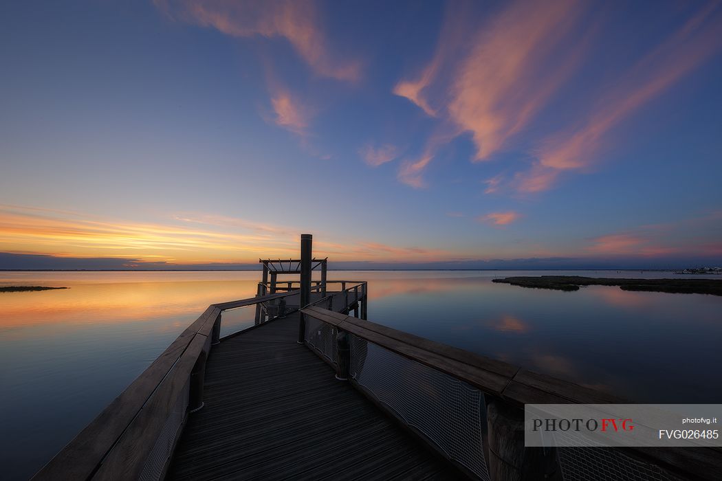
<path id="1" fill-rule="evenodd" d="M 0 61 L 0 268 L 722 265 L 721 1 L 14 1 Z"/>

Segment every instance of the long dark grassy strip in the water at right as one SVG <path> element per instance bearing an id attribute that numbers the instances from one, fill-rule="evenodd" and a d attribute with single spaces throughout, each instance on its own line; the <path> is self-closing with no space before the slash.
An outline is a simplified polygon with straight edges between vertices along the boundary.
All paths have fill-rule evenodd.
<path id="1" fill-rule="evenodd" d="M 619 286 L 624 291 L 722 296 L 722 280 L 720 279 L 614 279 L 578 275 L 540 275 L 539 277 L 494 279 L 493 282 L 557 291 L 578 291 L 580 286 Z"/>

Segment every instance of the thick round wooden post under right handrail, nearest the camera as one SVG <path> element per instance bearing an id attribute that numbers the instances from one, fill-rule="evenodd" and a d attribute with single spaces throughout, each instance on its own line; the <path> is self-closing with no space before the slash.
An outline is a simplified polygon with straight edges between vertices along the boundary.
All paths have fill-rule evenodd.
<path id="1" fill-rule="evenodd" d="M 487 404 L 489 475 L 492 481 L 556 479 L 553 450 L 524 447 L 524 412 L 500 399 Z"/>

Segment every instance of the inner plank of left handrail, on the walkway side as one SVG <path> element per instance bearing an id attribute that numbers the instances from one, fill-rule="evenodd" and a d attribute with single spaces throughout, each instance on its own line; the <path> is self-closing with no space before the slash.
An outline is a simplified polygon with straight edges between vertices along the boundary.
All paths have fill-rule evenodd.
<path id="1" fill-rule="evenodd" d="M 193 337 L 173 370 L 158 385 L 150 400 L 103 461 L 93 480 L 139 479 L 147 456 L 155 446 L 179 396 L 188 385 L 191 370 L 206 340 L 204 335 Z"/>

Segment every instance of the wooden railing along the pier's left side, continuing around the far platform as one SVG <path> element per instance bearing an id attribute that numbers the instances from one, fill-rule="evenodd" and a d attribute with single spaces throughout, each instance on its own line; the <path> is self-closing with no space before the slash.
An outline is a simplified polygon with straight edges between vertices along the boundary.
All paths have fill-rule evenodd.
<path id="1" fill-rule="evenodd" d="M 348 312 L 342 301 L 355 299 L 357 309 L 366 283 L 329 281 L 311 291 L 323 291 L 313 299 L 334 303 Z M 341 291 L 331 291 L 338 285 Z M 297 290 L 256 296 L 251 299 L 212 304 L 153 363 L 143 371 L 100 415 L 92 420 L 33 480 L 161 480 L 165 477 L 175 444 L 190 412 L 203 406 L 203 386 L 212 346 L 220 342 L 222 312 L 244 306 L 266 306 L 273 317 L 257 318 L 253 329 L 277 317 L 297 311 Z M 289 301 L 288 309 L 269 309 Z M 338 303 L 338 304 L 336 304 Z M 364 301 L 365 304 L 365 301 Z"/>

